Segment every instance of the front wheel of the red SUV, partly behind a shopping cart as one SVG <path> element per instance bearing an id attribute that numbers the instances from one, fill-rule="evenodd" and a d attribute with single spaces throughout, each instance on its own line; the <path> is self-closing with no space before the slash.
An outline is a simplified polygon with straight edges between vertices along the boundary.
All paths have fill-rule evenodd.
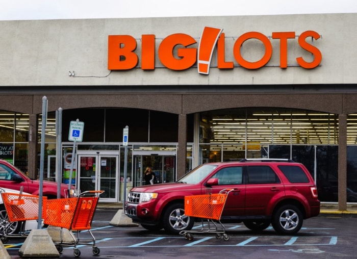
<path id="1" fill-rule="evenodd" d="M 194 223 L 194 218 L 185 215 L 182 203 L 168 205 L 164 211 L 163 226 L 170 234 L 179 234 L 183 230 L 190 230 Z"/>

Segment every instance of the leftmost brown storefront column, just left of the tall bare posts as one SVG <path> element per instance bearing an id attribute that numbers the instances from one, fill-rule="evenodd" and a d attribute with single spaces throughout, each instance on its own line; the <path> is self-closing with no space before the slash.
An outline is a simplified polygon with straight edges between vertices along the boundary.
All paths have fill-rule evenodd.
<path id="1" fill-rule="evenodd" d="M 28 170 L 29 176 L 35 179 L 37 177 L 38 116 L 36 114 L 30 114 L 29 123 Z"/>

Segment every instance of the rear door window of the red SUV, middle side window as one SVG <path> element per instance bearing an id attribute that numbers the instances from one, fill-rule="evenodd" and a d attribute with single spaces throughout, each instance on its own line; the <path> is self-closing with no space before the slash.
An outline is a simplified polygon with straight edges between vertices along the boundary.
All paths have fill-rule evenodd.
<path id="1" fill-rule="evenodd" d="M 279 177 L 269 166 L 247 166 L 247 184 L 278 184 Z"/>

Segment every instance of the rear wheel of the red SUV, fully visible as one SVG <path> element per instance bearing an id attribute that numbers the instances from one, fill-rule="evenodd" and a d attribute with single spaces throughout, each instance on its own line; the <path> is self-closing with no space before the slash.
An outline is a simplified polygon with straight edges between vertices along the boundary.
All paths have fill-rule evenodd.
<path id="1" fill-rule="evenodd" d="M 288 204 L 275 211 L 271 224 L 279 234 L 292 235 L 300 230 L 302 220 L 301 211 L 295 205 Z"/>

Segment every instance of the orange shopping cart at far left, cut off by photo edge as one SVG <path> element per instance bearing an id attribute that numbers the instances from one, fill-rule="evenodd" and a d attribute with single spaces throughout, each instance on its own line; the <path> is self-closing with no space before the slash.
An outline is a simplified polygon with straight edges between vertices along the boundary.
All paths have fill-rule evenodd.
<path id="1" fill-rule="evenodd" d="M 1 192 L 7 219 L 2 219 L 3 227 L 0 233 L 1 241 L 7 243 L 9 238 L 23 238 L 28 234 L 25 232 L 25 223 L 27 220 L 38 220 L 39 196 L 31 194 L 8 193 Z M 43 197 L 42 201 L 45 204 L 47 198 Z M 44 206 L 42 206 L 44 208 Z M 42 209 L 42 216 L 44 217 L 44 210 Z M 11 234 L 11 227 L 15 222 L 20 224 L 18 234 Z"/>

